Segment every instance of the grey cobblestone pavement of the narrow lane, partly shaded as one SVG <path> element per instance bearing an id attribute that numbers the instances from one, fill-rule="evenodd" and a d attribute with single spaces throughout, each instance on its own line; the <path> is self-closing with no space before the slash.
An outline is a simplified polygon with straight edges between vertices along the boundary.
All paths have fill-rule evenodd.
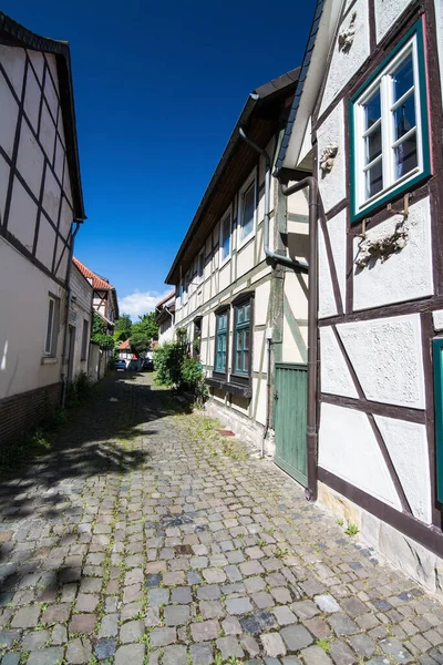
<path id="1" fill-rule="evenodd" d="M 2 665 L 443 663 L 432 597 L 150 382 L 2 485 Z"/>

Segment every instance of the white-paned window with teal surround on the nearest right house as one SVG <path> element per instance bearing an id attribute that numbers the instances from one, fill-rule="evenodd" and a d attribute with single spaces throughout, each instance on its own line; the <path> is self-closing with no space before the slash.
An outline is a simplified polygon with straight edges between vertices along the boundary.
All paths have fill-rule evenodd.
<path id="1" fill-rule="evenodd" d="M 356 221 L 430 173 L 420 21 L 351 99 L 350 121 Z"/>

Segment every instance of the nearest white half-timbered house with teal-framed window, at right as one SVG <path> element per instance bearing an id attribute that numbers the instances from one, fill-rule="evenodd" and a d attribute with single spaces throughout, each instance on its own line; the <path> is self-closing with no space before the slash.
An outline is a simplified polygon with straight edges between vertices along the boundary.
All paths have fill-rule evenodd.
<path id="1" fill-rule="evenodd" d="M 313 175 L 307 495 L 437 592 L 442 68 L 441 0 L 319 0 L 277 160 Z"/>

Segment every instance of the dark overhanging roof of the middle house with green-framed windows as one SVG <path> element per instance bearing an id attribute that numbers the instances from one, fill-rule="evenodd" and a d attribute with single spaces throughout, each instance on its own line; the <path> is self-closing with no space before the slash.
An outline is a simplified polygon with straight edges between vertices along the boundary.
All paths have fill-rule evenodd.
<path id="1" fill-rule="evenodd" d="M 203 198 L 198 205 L 198 208 L 194 215 L 194 218 L 187 229 L 187 233 L 183 239 L 183 243 L 176 254 L 173 265 L 171 266 L 169 273 L 165 279 L 166 284 L 176 284 L 177 283 L 177 272 L 178 266 L 182 264 L 182 259 L 185 255 L 186 248 L 189 245 L 193 236 L 195 235 L 196 228 L 198 227 L 200 219 L 203 218 L 204 213 L 210 202 L 210 198 L 219 184 L 220 180 L 225 175 L 227 171 L 228 164 L 230 164 L 230 160 L 238 147 L 239 142 L 245 145 L 245 151 L 253 151 L 250 146 L 248 146 L 243 139 L 240 139 L 239 130 L 240 127 L 245 127 L 248 122 L 253 119 L 253 116 L 258 112 L 260 106 L 267 104 L 269 102 L 279 99 L 282 94 L 289 91 L 290 88 L 296 88 L 298 76 L 300 73 L 300 68 L 293 69 L 277 79 L 272 79 L 269 83 L 265 83 L 260 85 L 256 90 L 254 90 L 246 100 L 246 104 L 240 113 L 240 116 L 234 127 L 234 131 L 229 137 L 229 141 L 225 147 L 225 151 L 217 164 L 217 167 L 213 174 L 213 177 L 209 181 L 209 184 L 203 195 Z M 266 123 L 262 123 L 264 125 Z M 269 125 L 269 122 L 268 122 Z M 261 136 L 266 135 L 265 126 L 258 127 L 257 131 L 261 130 Z M 257 137 L 251 136 L 256 142 Z M 256 153 L 254 153 L 254 158 L 256 158 Z M 217 218 L 213 221 L 213 226 L 217 223 Z"/>

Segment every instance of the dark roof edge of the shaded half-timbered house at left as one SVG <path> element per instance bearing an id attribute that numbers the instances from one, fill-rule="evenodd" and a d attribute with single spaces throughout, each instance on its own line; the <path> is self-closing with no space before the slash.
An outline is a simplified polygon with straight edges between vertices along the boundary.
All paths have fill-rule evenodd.
<path id="1" fill-rule="evenodd" d="M 0 11 L 0 39 L 2 43 L 52 53 L 55 55 L 59 76 L 60 103 L 62 106 L 66 141 L 68 168 L 76 221 L 86 218 L 80 176 L 79 144 L 75 127 L 74 91 L 72 85 L 71 53 L 68 42 L 34 34 Z"/>

